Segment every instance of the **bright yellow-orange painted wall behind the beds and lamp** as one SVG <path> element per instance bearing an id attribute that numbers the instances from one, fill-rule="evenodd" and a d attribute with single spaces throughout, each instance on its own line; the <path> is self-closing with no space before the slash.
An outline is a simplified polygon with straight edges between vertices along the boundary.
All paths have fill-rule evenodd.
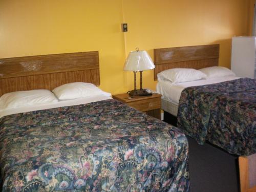
<path id="1" fill-rule="evenodd" d="M 98 50 L 100 88 L 122 93 L 133 89 L 122 68 L 136 47 L 153 58 L 154 48 L 220 44 L 229 67 L 231 37 L 250 33 L 250 1 L 1 0 L 0 58 Z M 143 87 L 155 85 L 153 70 L 143 72 Z"/>

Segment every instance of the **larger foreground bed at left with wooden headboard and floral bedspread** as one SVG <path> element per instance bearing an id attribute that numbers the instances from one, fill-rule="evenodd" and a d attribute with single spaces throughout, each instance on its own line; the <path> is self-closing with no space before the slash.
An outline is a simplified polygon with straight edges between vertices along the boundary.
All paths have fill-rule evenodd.
<path id="1" fill-rule="evenodd" d="M 99 85 L 98 52 L 0 63 L 0 95 L 76 81 Z M 0 110 L 1 191 L 189 190 L 188 144 L 176 127 L 105 92 L 52 101 Z"/>

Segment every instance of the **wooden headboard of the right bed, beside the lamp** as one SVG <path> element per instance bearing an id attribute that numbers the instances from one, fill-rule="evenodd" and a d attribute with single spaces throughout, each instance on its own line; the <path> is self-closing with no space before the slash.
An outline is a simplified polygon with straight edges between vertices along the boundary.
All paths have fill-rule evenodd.
<path id="1" fill-rule="evenodd" d="M 157 80 L 157 74 L 167 69 L 218 66 L 219 48 L 219 45 L 204 45 L 154 49 L 154 79 Z"/>

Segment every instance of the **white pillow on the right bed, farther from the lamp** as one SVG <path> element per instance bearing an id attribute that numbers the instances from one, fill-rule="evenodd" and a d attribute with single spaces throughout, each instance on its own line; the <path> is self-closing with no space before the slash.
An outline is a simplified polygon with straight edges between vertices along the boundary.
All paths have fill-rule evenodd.
<path id="1" fill-rule="evenodd" d="M 204 73 L 206 75 L 207 79 L 215 78 L 215 77 L 225 77 L 225 76 L 230 76 L 230 75 L 233 75 L 233 76 L 236 75 L 230 69 L 227 69 L 225 67 L 220 67 L 220 66 L 203 68 L 203 69 L 200 69 L 199 71 Z"/>

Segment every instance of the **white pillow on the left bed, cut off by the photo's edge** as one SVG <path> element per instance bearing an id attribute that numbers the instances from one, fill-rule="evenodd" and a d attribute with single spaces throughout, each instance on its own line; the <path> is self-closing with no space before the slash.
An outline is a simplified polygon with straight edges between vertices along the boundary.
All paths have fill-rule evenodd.
<path id="1" fill-rule="evenodd" d="M 55 102 L 58 99 L 49 90 L 16 91 L 0 97 L 0 110 Z"/>

